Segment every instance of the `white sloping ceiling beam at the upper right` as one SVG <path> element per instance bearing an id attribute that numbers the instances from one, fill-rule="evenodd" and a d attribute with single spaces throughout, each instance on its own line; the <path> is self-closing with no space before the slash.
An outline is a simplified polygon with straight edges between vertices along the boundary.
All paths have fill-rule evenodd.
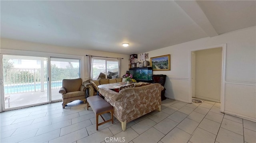
<path id="1" fill-rule="evenodd" d="M 175 0 L 175 2 L 180 6 L 180 8 L 182 8 L 182 10 L 184 10 L 184 12 L 186 12 L 186 14 L 188 14 L 190 18 L 192 18 L 194 22 L 196 22 L 196 24 L 198 24 L 204 30 L 204 32 L 209 37 L 218 35 L 210 21 L 204 14 L 203 10 L 200 8 L 195 0 Z"/>

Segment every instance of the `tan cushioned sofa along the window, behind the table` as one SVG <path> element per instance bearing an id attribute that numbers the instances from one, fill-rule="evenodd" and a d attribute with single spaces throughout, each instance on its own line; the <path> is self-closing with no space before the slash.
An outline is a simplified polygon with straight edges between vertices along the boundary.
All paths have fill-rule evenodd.
<path id="1" fill-rule="evenodd" d="M 122 78 L 101 78 L 101 79 L 91 79 L 86 80 L 83 82 L 83 85 L 88 90 L 86 91 L 88 96 L 94 96 L 97 95 L 98 92 L 98 85 L 100 84 L 108 84 L 108 83 L 116 83 L 116 82 L 122 82 Z"/>

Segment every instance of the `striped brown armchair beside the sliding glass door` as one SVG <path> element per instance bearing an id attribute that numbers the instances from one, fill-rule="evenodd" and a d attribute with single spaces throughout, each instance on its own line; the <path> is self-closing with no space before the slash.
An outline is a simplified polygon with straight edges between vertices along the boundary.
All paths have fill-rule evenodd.
<path id="1" fill-rule="evenodd" d="M 62 94 L 62 108 L 75 100 L 82 100 L 86 103 L 86 88 L 82 84 L 82 78 L 62 80 L 59 93 Z"/>

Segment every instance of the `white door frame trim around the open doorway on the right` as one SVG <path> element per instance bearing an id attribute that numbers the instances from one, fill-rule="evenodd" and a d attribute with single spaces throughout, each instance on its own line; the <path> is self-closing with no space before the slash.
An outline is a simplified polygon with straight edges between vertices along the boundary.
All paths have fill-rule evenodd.
<path id="1" fill-rule="evenodd" d="M 225 96 L 225 75 L 226 75 L 226 44 L 221 44 L 221 45 L 214 45 L 211 47 L 202 47 L 198 49 L 193 49 L 189 53 L 189 84 L 190 84 L 190 95 L 188 98 L 188 101 L 192 103 L 192 52 L 198 51 L 198 50 L 205 50 L 205 49 L 212 49 L 212 48 L 219 48 L 222 47 L 222 71 L 221 71 L 221 89 L 220 89 L 220 112 L 224 112 L 224 96 Z"/>

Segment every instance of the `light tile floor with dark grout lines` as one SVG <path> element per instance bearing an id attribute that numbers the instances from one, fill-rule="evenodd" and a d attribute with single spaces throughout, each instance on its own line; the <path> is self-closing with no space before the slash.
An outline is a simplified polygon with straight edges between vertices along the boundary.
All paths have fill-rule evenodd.
<path id="1" fill-rule="evenodd" d="M 0 114 L 1 143 L 256 143 L 256 123 L 220 112 L 220 103 L 187 104 L 166 99 L 126 125 L 114 119 L 96 131 L 95 114 L 86 104 L 61 102 Z M 110 114 L 103 115 L 106 119 Z M 100 121 L 103 121 L 99 118 Z M 112 141 L 110 140 L 112 139 Z"/>

